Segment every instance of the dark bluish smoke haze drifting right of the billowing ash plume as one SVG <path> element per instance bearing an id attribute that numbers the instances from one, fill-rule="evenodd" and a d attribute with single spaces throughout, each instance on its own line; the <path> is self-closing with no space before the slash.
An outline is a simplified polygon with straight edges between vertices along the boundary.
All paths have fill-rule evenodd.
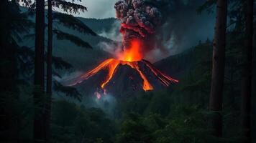
<path id="1" fill-rule="evenodd" d="M 195 46 L 200 40 L 212 38 L 214 14 L 198 14 L 196 11 L 204 2 L 205 0 L 161 0 L 159 7 L 161 11 L 165 11 L 164 21 L 157 29 L 155 40 L 152 40 L 161 56 L 178 54 Z"/>

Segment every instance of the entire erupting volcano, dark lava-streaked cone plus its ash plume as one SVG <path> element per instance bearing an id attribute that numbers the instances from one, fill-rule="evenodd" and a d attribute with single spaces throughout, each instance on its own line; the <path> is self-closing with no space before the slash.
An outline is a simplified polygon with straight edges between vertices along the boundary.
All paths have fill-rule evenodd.
<path id="1" fill-rule="evenodd" d="M 134 91 L 150 91 L 178 82 L 143 59 L 154 49 L 152 37 L 156 36 L 157 27 L 163 24 L 160 9 L 145 0 L 119 0 L 114 8 L 116 18 L 121 21 L 122 50 L 117 50 L 114 58 L 104 60 L 68 85 L 95 90 L 96 97 L 100 98 L 107 92 L 134 94 Z"/>

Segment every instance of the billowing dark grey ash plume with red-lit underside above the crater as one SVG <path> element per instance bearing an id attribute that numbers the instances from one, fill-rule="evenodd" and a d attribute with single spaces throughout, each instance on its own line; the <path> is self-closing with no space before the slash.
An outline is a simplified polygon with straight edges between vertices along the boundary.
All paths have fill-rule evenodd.
<path id="1" fill-rule="evenodd" d="M 145 0 L 119 0 L 116 2 L 116 18 L 122 22 L 124 49 L 129 47 L 132 39 L 146 43 L 160 25 L 162 14 L 152 3 Z"/>

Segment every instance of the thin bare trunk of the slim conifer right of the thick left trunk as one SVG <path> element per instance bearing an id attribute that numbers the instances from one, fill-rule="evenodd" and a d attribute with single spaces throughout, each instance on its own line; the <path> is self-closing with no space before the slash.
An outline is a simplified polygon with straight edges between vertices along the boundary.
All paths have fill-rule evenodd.
<path id="1" fill-rule="evenodd" d="M 47 43 L 47 108 L 46 108 L 46 142 L 50 142 L 50 112 L 52 97 L 52 0 L 48 0 L 48 43 Z"/>

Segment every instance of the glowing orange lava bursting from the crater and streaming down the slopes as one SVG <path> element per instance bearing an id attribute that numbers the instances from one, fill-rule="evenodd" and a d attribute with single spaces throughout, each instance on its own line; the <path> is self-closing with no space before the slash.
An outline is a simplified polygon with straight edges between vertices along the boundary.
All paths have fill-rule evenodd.
<path id="1" fill-rule="evenodd" d="M 124 51 L 124 53 L 120 54 L 118 58 L 119 59 L 106 59 L 101 64 L 99 64 L 99 66 L 96 66 L 96 68 L 92 69 L 91 71 L 88 71 L 86 74 L 82 74 L 80 77 L 78 77 L 78 79 L 76 79 L 75 82 L 70 84 L 70 86 L 83 82 L 84 80 L 98 73 L 101 69 L 107 69 L 108 74 L 104 82 L 102 82 L 101 84 L 101 88 L 104 89 L 106 84 L 108 84 L 111 78 L 114 76 L 116 68 L 119 65 L 127 64 L 132 69 L 135 69 L 136 71 L 138 71 L 138 73 L 140 74 L 140 77 L 143 79 L 142 88 L 145 91 L 154 89 L 150 84 L 150 82 L 147 80 L 147 77 L 145 76 L 145 74 L 140 69 L 140 66 L 138 65 L 139 63 L 138 61 L 141 61 L 142 63 L 144 63 L 145 66 L 147 66 L 152 71 L 152 73 L 155 74 L 157 79 L 159 79 L 164 86 L 169 86 L 171 82 L 178 82 L 178 80 L 175 80 L 169 77 L 168 75 L 163 74 L 161 71 L 155 69 L 155 67 L 152 64 L 150 64 L 150 62 L 142 59 L 142 54 L 140 54 L 140 41 L 136 41 L 136 40 L 132 41 L 131 47 L 126 51 Z M 106 89 L 104 89 L 104 92 L 105 91 Z"/>

